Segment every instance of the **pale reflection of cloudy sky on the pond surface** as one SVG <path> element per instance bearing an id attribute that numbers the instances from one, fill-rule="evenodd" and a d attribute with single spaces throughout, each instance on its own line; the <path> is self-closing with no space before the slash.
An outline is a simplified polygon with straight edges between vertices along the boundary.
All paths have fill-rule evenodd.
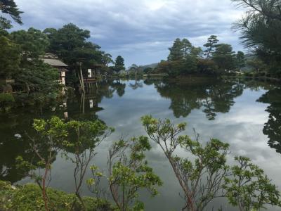
<path id="1" fill-rule="evenodd" d="M 121 137 L 129 139 L 131 136 L 145 135 L 140 118 L 151 114 L 154 117 L 169 118 L 175 124 L 188 122 L 188 129 L 184 134 L 189 134 L 191 137 L 193 137 L 192 128 L 195 128 L 202 141 L 216 138 L 230 143 L 230 160 L 233 159 L 233 155 L 246 155 L 255 164 L 261 166 L 268 177 L 281 187 L 280 154 L 275 153 L 275 149 L 267 145 L 268 138 L 263 134 L 263 124 L 268 121 L 268 113 L 265 112 L 268 104 L 256 102 L 256 99 L 264 93 L 263 90 L 244 89 L 242 95 L 233 98 L 235 103 L 230 106 L 228 113 L 218 112 L 215 120 L 209 121 L 206 114 L 202 112 L 204 108 L 195 108 L 187 117 L 176 118 L 173 110 L 169 109 L 171 100 L 161 97 L 154 86 L 143 84 L 143 87 L 133 90 L 127 85 L 122 97 L 114 93 L 112 98 L 103 98 L 98 104 L 104 108 L 96 113 L 100 120 L 110 127 L 115 127 L 116 130 L 98 147 L 98 155 L 93 159 L 93 163 L 106 169 L 107 148 Z M 187 155 L 185 151 L 177 151 L 177 154 Z M 145 194 L 142 195 L 147 201 L 148 210 L 159 210 L 160 205 L 162 210 L 181 209 L 183 200 L 178 196 L 181 188 L 161 149 L 152 143 L 152 150 L 147 155 L 148 162 L 164 181 L 164 186 L 159 188 L 160 196 L 151 199 L 145 197 Z M 72 175 L 72 170 L 70 163 L 65 163 L 58 158 L 53 165 L 53 178 L 56 180 L 53 179 L 52 185 L 65 191 L 72 191 L 73 180 L 69 176 Z M 88 172 L 85 178 L 89 177 Z M 89 194 L 85 184 L 83 191 Z M 220 203 L 221 201 L 215 201 L 212 205 Z M 225 209 L 231 210 L 230 207 Z"/>

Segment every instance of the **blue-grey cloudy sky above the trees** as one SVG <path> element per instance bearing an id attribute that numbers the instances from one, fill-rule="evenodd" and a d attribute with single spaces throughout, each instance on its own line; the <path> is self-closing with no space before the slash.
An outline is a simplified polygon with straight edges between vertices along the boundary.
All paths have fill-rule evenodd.
<path id="1" fill-rule="evenodd" d="M 202 46 L 210 34 L 242 50 L 231 24 L 242 10 L 230 0 L 15 0 L 24 25 L 59 28 L 74 23 L 91 31 L 91 41 L 126 66 L 166 59 L 177 37 Z"/>

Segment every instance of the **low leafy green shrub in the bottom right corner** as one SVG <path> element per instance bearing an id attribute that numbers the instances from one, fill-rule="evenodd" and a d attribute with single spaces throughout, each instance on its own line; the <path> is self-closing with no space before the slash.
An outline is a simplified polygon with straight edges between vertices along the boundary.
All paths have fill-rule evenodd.
<path id="1" fill-rule="evenodd" d="M 232 177 L 226 178 L 226 196 L 230 204 L 241 211 L 260 210 L 264 205 L 281 206 L 280 192 L 270 179 L 249 158 L 235 157 L 239 165 L 232 167 Z"/>

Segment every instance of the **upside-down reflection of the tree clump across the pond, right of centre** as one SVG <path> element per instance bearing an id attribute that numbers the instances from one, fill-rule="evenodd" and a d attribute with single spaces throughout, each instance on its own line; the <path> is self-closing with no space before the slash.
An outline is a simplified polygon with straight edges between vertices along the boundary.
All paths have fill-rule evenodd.
<path id="1" fill-rule="evenodd" d="M 203 109 L 208 120 L 214 120 L 216 113 L 228 113 L 240 96 L 244 85 L 239 81 L 214 81 L 200 84 L 157 84 L 161 96 L 171 99 L 169 109 L 175 117 L 187 117 L 193 109 Z"/>

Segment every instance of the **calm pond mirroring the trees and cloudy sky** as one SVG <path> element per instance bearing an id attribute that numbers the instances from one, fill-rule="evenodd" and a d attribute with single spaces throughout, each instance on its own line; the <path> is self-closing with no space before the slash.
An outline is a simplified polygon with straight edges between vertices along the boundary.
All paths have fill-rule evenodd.
<path id="1" fill-rule="evenodd" d="M 193 137 L 192 131 L 196 129 L 202 142 L 216 138 L 230 143 L 231 156 L 251 158 L 281 188 L 281 89 L 268 82 L 241 79 L 103 81 L 91 86 L 85 96 L 68 97 L 58 106 L 22 108 L 1 114 L 0 179 L 18 184 L 30 182 L 22 176 L 24 172 L 16 169 L 15 158 L 18 155 L 27 160 L 33 158 L 28 141 L 18 137 L 25 132 L 32 134 L 34 118 L 58 115 L 75 120 L 99 119 L 115 127 L 115 132 L 98 146 L 98 154 L 91 161 L 106 171 L 107 150 L 112 142 L 145 135 L 140 118 L 147 114 L 169 118 L 174 123 L 187 122 L 188 129 L 183 134 Z M 178 153 L 185 154 L 184 151 Z M 179 196 L 181 188 L 155 144 L 152 144 L 147 160 L 164 185 L 155 198 L 141 192 L 146 210 L 181 210 L 184 205 Z M 73 171 L 72 162 L 58 155 L 53 162 L 50 186 L 73 192 Z M 87 172 L 85 179 L 90 176 Z M 85 183 L 82 193 L 93 196 Z M 221 199 L 210 203 L 207 210 L 212 207 L 236 210 Z M 277 208 L 269 207 L 269 210 Z"/>

